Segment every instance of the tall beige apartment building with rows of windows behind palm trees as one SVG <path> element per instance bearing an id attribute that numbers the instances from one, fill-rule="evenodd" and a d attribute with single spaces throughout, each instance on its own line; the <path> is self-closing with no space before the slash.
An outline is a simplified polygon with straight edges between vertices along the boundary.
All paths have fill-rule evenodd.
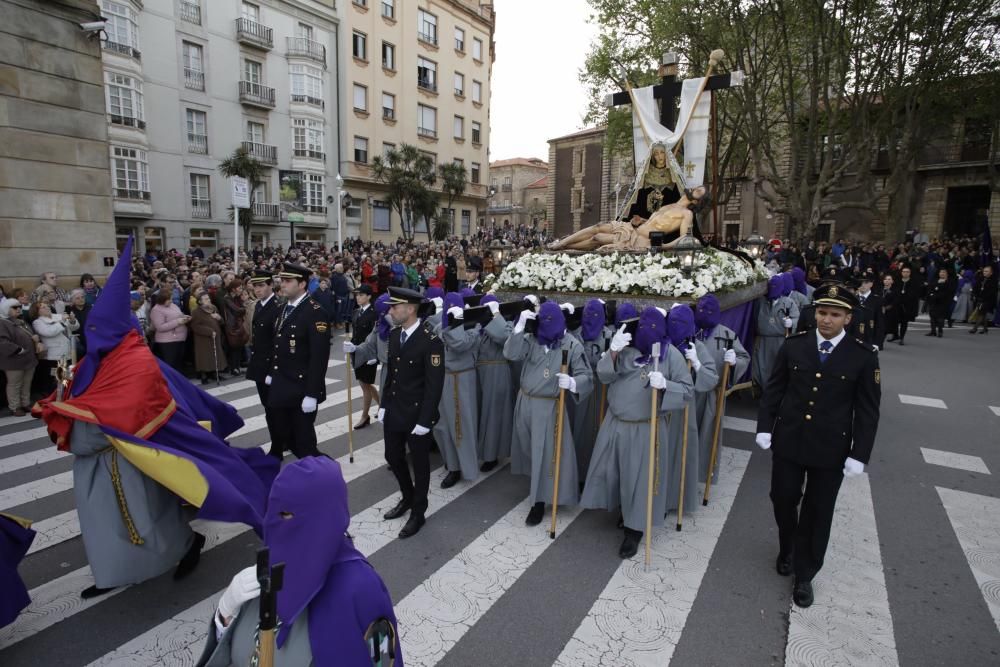
<path id="1" fill-rule="evenodd" d="M 372 177 L 376 155 L 416 146 L 466 168 L 450 211 L 455 234 L 485 217 L 494 13 L 478 0 L 343 0 L 345 237 L 393 240 L 401 221 Z M 426 231 L 418 222 L 418 238 Z"/>

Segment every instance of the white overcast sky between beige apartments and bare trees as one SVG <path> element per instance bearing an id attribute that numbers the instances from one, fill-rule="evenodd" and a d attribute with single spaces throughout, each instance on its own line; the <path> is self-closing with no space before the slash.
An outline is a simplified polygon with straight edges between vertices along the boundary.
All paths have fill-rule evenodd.
<path id="1" fill-rule="evenodd" d="M 583 129 L 579 71 L 596 35 L 586 0 L 494 0 L 490 161 L 549 159 L 548 140 Z"/>

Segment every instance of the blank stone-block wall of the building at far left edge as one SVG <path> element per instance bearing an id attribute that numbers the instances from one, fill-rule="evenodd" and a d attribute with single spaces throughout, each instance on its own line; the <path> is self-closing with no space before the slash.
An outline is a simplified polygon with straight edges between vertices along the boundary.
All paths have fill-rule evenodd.
<path id="1" fill-rule="evenodd" d="M 65 287 L 117 253 L 96 2 L 0 0 L 0 281 Z"/>

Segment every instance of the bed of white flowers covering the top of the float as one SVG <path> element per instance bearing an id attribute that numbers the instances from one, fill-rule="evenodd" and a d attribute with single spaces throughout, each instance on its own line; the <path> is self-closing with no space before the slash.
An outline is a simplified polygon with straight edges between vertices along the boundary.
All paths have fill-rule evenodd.
<path id="1" fill-rule="evenodd" d="M 499 290 L 596 292 L 699 298 L 767 280 L 764 264 L 753 266 L 714 248 L 701 251 L 695 269 L 681 270 L 672 253 L 533 253 L 504 267 L 492 287 Z"/>

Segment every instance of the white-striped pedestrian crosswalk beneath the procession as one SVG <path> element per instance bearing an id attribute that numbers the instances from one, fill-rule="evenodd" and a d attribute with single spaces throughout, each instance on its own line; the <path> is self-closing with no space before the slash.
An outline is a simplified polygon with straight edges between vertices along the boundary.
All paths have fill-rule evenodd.
<path id="1" fill-rule="evenodd" d="M 436 472 L 428 526 L 412 540 L 400 542 L 401 522 L 382 519 L 399 496 L 385 469 L 380 426 L 354 432 L 354 462 L 349 461 L 352 415 L 347 410 L 343 363 L 330 362 L 328 399 L 320 406 L 317 437 L 320 449 L 341 464 L 352 510 L 350 532 L 386 578 L 408 665 L 473 664 L 470 654 L 477 655 L 474 664 L 479 665 L 671 664 L 686 629 L 711 623 L 696 605 L 711 576 L 710 563 L 725 567 L 742 557 L 717 548 L 727 531 L 738 528 L 732 524 L 734 504 L 738 499 L 754 503 L 753 511 L 770 521 L 766 496 L 740 497 L 754 457 L 767 456 L 753 450 L 755 423 L 743 410 L 726 416 L 729 446 L 720 454 L 712 502 L 695 508 L 681 532 L 673 530 L 674 521 L 666 522 L 669 528 L 654 536 L 648 569 L 641 549 L 631 560 L 618 558 L 620 533 L 607 513 L 561 508 L 556 537 L 551 539 L 548 516 L 541 526 L 524 524 L 526 479 L 513 477 L 509 467 L 500 466 L 476 480 L 441 489 L 437 457 L 432 459 Z M 209 391 L 233 405 L 245 420 L 232 438 L 235 446 L 268 446 L 253 383 L 234 379 Z M 356 391 L 352 407 L 357 421 Z M 925 457 L 928 451 L 924 450 Z M 83 600 L 79 593 L 93 579 L 72 505 L 71 466 L 72 459 L 56 452 L 37 422 L 17 418 L 0 422 L 0 511 L 34 519 L 38 531 L 21 567 L 32 602 L 14 623 L 0 628 L 0 665 L 195 664 L 219 596 L 232 576 L 253 562 L 255 534 L 240 524 L 196 521 L 194 527 L 206 535 L 207 543 L 202 564 L 191 578 L 174 583 L 168 574 Z M 1000 539 L 995 526 L 981 518 L 1000 512 L 998 501 L 945 488 L 938 488 L 938 493 L 969 559 L 970 576 L 976 578 L 1000 629 L 996 586 Z M 773 534 L 755 539 L 766 542 L 768 551 L 775 542 Z M 589 565 L 599 565 L 588 565 L 585 585 L 574 574 L 581 549 L 586 550 Z M 761 579 L 780 579 L 771 561 L 761 562 L 756 571 Z M 563 583 L 543 592 L 537 585 L 539 577 L 553 572 L 561 574 Z M 786 583 L 790 592 L 790 580 L 777 581 L 778 586 Z M 574 593 L 574 588 L 587 592 Z M 897 628 L 890 613 L 867 475 L 844 482 L 816 597 L 816 604 L 807 610 L 793 607 L 790 596 L 784 599 L 787 634 L 771 648 L 777 662 L 898 664 Z M 739 596 L 732 604 L 756 613 L 752 596 Z M 523 627 L 524 610 L 539 612 L 530 615 L 531 639 L 496 637 L 488 629 L 505 624 Z M 521 618 L 505 619 L 511 613 Z M 470 643 L 480 642 L 484 633 L 494 635 L 495 641 L 489 642 L 488 654 L 478 654 Z M 537 642 L 539 650 L 530 642 Z M 722 659 L 715 650 L 719 649 L 704 647 L 699 664 L 739 663 L 738 654 Z"/>

